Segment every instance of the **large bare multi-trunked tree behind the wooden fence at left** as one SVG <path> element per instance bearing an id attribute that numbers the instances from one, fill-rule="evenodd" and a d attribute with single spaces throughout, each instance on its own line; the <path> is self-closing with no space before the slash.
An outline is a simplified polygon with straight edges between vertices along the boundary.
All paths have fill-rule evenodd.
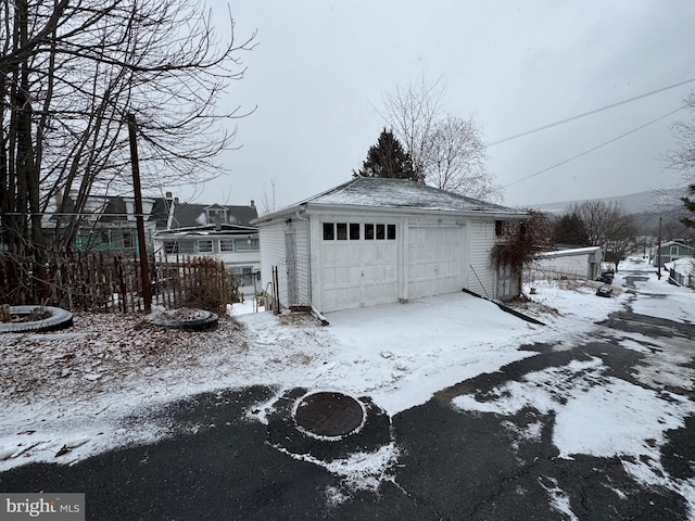
<path id="1" fill-rule="evenodd" d="M 195 183 L 232 147 L 217 105 L 243 77 L 210 14 L 189 0 L 16 0 L 0 8 L 0 240 L 42 247 L 41 214 L 58 201 L 55 245 L 70 244 L 96 191 L 130 191 L 126 114 L 140 130 L 142 183 Z M 30 225 L 26 216 L 31 216 Z"/>

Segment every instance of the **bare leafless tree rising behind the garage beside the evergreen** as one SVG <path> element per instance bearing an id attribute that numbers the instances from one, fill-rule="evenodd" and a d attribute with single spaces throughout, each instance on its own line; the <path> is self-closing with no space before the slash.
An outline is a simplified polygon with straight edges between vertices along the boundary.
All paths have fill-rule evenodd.
<path id="1" fill-rule="evenodd" d="M 383 98 L 380 113 L 404 143 L 413 166 L 427 185 L 476 199 L 498 201 L 502 188 L 485 169 L 480 126 L 441 109 L 444 89 L 422 76 Z"/>

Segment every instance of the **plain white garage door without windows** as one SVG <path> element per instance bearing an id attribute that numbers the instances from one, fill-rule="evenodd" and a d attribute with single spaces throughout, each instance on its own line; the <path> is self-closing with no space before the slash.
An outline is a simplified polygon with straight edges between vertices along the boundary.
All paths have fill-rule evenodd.
<path id="1" fill-rule="evenodd" d="M 463 228 L 408 229 L 408 298 L 460 291 Z"/>

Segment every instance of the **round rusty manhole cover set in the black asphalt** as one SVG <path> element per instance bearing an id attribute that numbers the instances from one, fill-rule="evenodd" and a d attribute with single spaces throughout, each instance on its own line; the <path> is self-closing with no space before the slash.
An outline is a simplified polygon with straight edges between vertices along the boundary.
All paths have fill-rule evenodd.
<path id="1" fill-rule="evenodd" d="M 364 409 L 352 396 L 341 393 L 314 393 L 300 399 L 294 412 L 296 423 L 319 436 L 342 436 L 363 423 Z"/>

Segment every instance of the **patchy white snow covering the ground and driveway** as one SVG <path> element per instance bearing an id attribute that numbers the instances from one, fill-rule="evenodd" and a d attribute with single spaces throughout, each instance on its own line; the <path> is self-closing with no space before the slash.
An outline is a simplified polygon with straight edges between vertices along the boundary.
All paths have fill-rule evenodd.
<path id="1" fill-rule="evenodd" d="M 236 318 L 212 332 L 153 329 L 137 317 L 79 315 L 67 332 L 5 334 L 0 338 L 0 471 L 33 461 L 70 463 L 152 442 L 169 432 L 150 422 L 151 410 L 201 392 L 253 384 L 273 385 L 278 395 L 298 386 L 336 390 L 368 395 L 394 415 L 441 389 L 534 356 L 519 350 L 523 344 L 570 348 L 590 338 L 594 321 L 627 304 L 635 313 L 695 322 L 694 292 L 657 280 L 654 268 L 641 259 L 623 263 L 624 269 L 644 270 L 648 277 L 637 282 L 636 296 L 623 291 L 621 272 L 612 298 L 595 296 L 596 283 L 535 282 L 534 302 L 520 309 L 547 326 L 453 293 L 332 313 L 328 327 L 306 316 L 249 313 L 247 304 L 236 305 Z M 648 339 L 640 334 L 620 340 L 624 347 L 648 352 L 645 344 Z M 687 355 L 684 346 L 675 347 L 671 359 L 655 357 L 657 368 L 645 367 L 639 374 L 654 390 L 604 374 L 602 360 L 594 359 L 530 373 L 484 403 L 464 395 L 454 404 L 502 416 L 523 405 L 553 410 L 553 441 L 566 458 L 632 455 L 658 461 L 664 433 L 695 414 L 693 402 L 657 391 L 668 379 L 693 389 L 695 371 L 679 365 Z M 669 371 L 659 371 L 659 364 Z M 579 373 L 583 380 L 576 378 Z M 570 399 L 556 401 L 557 390 Z M 607 427 L 586 435 L 592 424 Z M 530 430 L 527 435 L 538 433 Z M 377 469 L 367 469 L 370 475 L 397 458 L 397 447 L 387 448 L 392 454 L 375 455 Z M 364 471 L 365 458 L 357 459 L 355 472 Z M 630 470 L 645 483 L 666 480 L 657 463 L 635 462 Z M 340 473 L 350 474 L 349 462 L 340 466 Z M 669 486 L 695 498 L 692 482 Z"/>

